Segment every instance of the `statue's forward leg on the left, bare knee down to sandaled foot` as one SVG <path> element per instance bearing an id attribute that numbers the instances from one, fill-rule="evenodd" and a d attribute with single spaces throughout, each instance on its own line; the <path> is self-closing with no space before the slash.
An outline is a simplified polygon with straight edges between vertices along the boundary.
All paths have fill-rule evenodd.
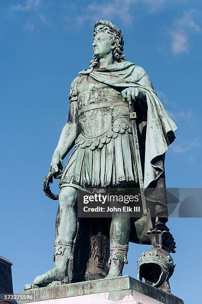
<path id="1" fill-rule="evenodd" d="M 73 187 L 63 187 L 59 200 L 56 217 L 55 266 L 45 274 L 36 277 L 34 284 L 39 287 L 47 286 L 53 281 L 68 283 L 68 262 L 72 260 L 71 251 L 77 230 L 77 190 Z"/>

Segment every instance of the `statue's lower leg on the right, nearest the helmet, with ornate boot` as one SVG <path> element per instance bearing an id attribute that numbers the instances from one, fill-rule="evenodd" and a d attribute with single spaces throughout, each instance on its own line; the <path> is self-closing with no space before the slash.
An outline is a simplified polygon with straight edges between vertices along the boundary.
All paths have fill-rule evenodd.
<path id="1" fill-rule="evenodd" d="M 131 220 L 129 214 L 116 213 L 112 215 L 110 228 L 110 271 L 106 278 L 122 276 L 124 264 L 128 263 L 127 252 L 129 248 L 129 235 Z"/>

